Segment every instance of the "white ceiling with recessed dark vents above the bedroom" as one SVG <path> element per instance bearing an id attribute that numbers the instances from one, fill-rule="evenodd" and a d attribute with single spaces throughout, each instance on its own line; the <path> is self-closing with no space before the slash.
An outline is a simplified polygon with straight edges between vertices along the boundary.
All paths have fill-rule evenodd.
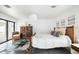
<path id="1" fill-rule="evenodd" d="M 63 12 L 71 9 L 71 5 L 56 5 L 51 8 L 51 5 L 9 5 L 11 8 L 6 8 L 0 5 L 0 13 L 7 14 L 17 19 L 26 19 L 34 14 L 38 18 L 52 19 Z"/>

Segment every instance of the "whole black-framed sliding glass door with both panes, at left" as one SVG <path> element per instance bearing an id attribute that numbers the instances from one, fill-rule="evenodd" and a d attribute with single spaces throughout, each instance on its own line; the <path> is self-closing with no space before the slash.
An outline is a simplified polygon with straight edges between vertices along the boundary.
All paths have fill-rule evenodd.
<path id="1" fill-rule="evenodd" d="M 0 43 L 12 39 L 12 33 L 15 31 L 15 22 L 0 18 Z"/>

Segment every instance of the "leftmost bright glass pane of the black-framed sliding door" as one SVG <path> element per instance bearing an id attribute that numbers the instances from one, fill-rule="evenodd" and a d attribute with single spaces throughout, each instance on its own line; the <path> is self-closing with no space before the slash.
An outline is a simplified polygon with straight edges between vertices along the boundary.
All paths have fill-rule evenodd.
<path id="1" fill-rule="evenodd" d="M 6 21 L 0 20 L 0 43 L 6 41 Z"/>

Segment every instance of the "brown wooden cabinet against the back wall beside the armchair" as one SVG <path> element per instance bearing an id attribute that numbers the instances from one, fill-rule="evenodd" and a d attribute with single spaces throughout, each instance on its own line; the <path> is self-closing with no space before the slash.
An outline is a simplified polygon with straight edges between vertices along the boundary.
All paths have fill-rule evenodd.
<path id="1" fill-rule="evenodd" d="M 32 36 L 32 26 L 29 24 L 27 26 L 20 27 L 21 38 L 27 38 Z"/>

